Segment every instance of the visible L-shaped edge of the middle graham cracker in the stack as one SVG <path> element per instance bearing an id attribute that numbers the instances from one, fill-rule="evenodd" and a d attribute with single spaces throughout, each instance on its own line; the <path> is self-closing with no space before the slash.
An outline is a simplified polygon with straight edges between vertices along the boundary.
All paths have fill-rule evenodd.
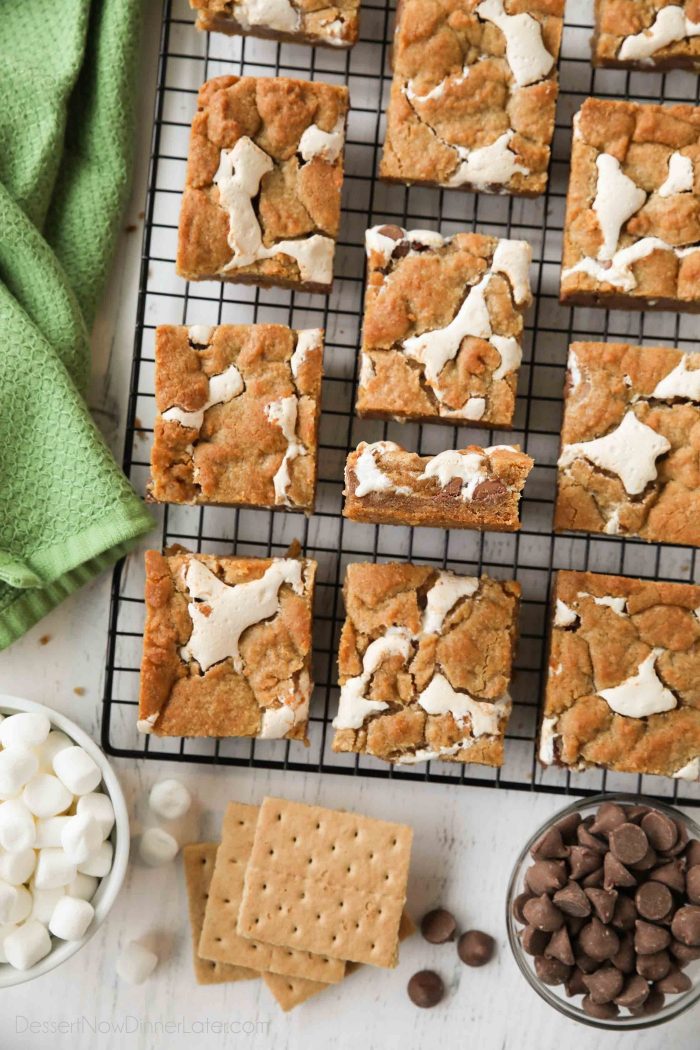
<path id="1" fill-rule="evenodd" d="M 345 963 L 324 954 L 267 944 L 236 932 L 246 866 L 253 846 L 258 806 L 230 802 L 221 824 L 209 901 L 198 952 L 203 959 L 333 984 L 341 981 Z"/>

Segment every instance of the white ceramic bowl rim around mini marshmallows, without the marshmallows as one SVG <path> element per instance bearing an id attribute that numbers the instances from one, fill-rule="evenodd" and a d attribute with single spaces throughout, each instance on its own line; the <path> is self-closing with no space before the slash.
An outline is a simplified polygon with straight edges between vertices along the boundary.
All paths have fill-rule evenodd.
<path id="1" fill-rule="evenodd" d="M 124 882 L 129 860 L 129 815 L 122 788 L 116 779 L 116 774 L 103 752 L 90 739 L 87 733 L 83 732 L 80 726 L 76 726 L 65 715 L 44 707 L 43 704 L 35 704 L 33 700 L 23 700 L 19 696 L 8 696 L 5 693 L 0 693 L 0 714 L 12 715 L 18 711 L 33 711 L 46 715 L 50 719 L 52 728 L 61 730 L 71 740 L 75 740 L 77 744 L 84 748 L 88 755 L 98 763 L 102 771 L 102 783 L 96 790 L 104 791 L 109 796 L 114 807 L 114 826 L 109 836 L 114 848 L 114 856 L 111 870 L 100 880 L 100 885 L 90 901 L 94 907 L 94 919 L 90 923 L 85 937 L 80 941 L 60 941 L 58 938 L 52 937 L 51 942 L 54 947 L 49 953 L 28 970 L 16 970 L 7 963 L 0 964 L 0 988 L 9 988 L 10 985 L 33 981 L 34 978 L 39 978 L 42 973 L 48 973 L 49 970 L 60 966 L 61 963 L 65 963 L 66 959 L 70 959 L 77 951 L 80 951 L 83 945 L 87 944 L 90 940 L 98 926 L 107 918 Z"/>

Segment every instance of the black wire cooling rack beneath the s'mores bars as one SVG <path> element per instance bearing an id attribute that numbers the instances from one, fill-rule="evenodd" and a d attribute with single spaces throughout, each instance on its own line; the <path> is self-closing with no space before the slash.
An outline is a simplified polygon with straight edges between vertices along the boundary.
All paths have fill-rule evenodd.
<path id="1" fill-rule="evenodd" d="M 390 84 L 389 46 L 394 10 L 388 0 L 363 3 L 361 40 L 349 51 L 314 50 L 253 38 L 203 35 L 194 30 L 186 0 L 165 0 L 141 286 L 136 316 L 124 466 L 142 494 L 155 414 L 153 339 L 160 323 L 277 321 L 326 331 L 325 378 L 320 425 L 319 484 L 313 518 L 283 511 L 214 507 L 162 507 L 161 536 L 150 545 L 179 543 L 191 550 L 243 555 L 282 554 L 298 539 L 319 564 L 314 622 L 314 672 L 310 739 L 298 742 L 241 739 L 173 739 L 137 734 L 139 665 L 144 625 L 143 558 L 114 570 L 102 742 L 111 755 L 298 772 L 429 780 L 454 784 L 589 794 L 601 790 L 643 791 L 700 805 L 697 785 L 662 777 L 632 777 L 589 771 L 542 771 L 535 760 L 537 709 L 546 667 L 546 620 L 552 573 L 591 569 L 676 581 L 698 579 L 696 551 L 614 537 L 552 534 L 555 463 L 561 418 L 567 350 L 574 339 L 625 339 L 695 349 L 697 319 L 676 314 L 608 312 L 563 308 L 557 301 L 571 121 L 591 94 L 653 102 L 699 101 L 690 74 L 627 74 L 593 70 L 590 62 L 590 3 L 569 0 L 560 61 L 553 161 L 547 193 L 535 201 L 458 191 L 386 185 L 376 178 L 384 138 Z M 303 295 L 277 290 L 201 282 L 175 275 L 177 215 L 185 183 L 189 127 L 201 83 L 221 74 L 290 76 L 347 84 L 352 109 L 345 160 L 341 235 L 333 293 Z M 513 432 L 382 423 L 354 416 L 364 278 L 363 235 L 368 226 L 440 228 L 445 233 L 479 230 L 527 239 L 533 248 L 535 302 L 526 324 Z M 442 531 L 361 525 L 341 517 L 343 465 L 360 440 L 389 438 L 422 455 L 450 442 L 519 442 L 535 459 L 522 503 L 518 534 Z M 412 560 L 458 572 L 487 572 L 523 585 L 521 640 L 513 680 L 514 708 L 502 770 L 431 762 L 387 766 L 364 755 L 331 750 L 331 720 L 337 710 L 336 653 L 342 627 L 342 581 L 348 562 Z"/>

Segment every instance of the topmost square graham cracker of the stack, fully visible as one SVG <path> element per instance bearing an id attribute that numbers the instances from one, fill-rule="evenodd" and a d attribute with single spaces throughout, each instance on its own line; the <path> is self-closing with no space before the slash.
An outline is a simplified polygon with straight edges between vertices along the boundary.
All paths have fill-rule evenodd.
<path id="1" fill-rule="evenodd" d="M 317 954 L 396 966 L 412 830 L 266 798 L 237 931 Z"/>

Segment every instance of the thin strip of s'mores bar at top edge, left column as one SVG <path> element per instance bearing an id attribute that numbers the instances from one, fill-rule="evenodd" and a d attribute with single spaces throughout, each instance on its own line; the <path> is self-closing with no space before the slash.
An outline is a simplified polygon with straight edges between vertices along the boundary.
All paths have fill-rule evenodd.
<path id="1" fill-rule="evenodd" d="M 352 47 L 360 0 L 190 0 L 196 28 L 319 47 Z"/>

